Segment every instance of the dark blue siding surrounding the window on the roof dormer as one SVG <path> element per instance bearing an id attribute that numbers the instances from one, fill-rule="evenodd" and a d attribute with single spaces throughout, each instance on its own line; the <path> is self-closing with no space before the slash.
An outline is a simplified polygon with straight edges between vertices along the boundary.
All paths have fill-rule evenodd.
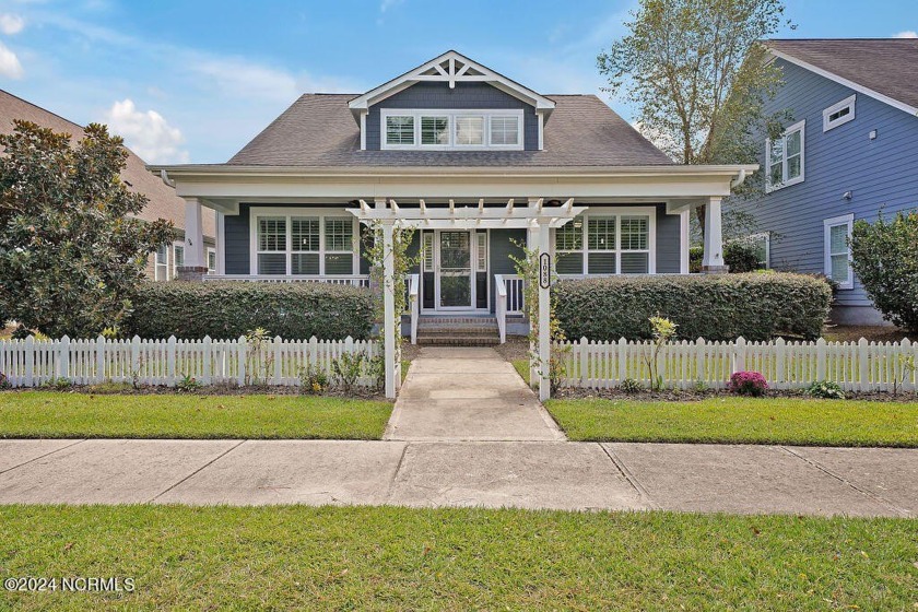
<path id="1" fill-rule="evenodd" d="M 539 117 L 536 108 L 487 83 L 416 83 L 369 107 L 366 148 L 379 150 L 379 110 L 382 108 L 521 108 L 523 149 L 539 150 Z"/>

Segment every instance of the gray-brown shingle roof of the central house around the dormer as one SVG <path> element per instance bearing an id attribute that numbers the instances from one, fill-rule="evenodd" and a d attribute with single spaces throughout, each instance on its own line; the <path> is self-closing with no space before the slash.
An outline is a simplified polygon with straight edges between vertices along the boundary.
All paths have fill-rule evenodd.
<path id="1" fill-rule="evenodd" d="M 552 95 L 544 151 L 361 151 L 348 102 L 355 94 L 305 94 L 236 153 L 231 165 L 639 166 L 672 164 L 595 95 Z"/>

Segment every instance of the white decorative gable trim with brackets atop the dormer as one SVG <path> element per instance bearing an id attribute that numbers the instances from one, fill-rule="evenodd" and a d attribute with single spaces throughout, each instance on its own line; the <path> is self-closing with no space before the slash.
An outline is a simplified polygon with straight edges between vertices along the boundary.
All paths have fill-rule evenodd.
<path id="1" fill-rule="evenodd" d="M 401 76 L 397 76 L 362 96 L 355 97 L 348 105 L 351 113 L 356 117 L 366 113 L 374 104 L 424 81 L 448 83 L 450 89 L 456 87 L 458 82 L 483 82 L 532 105 L 537 113 L 549 114 L 555 107 L 555 103 L 545 96 L 456 51 L 447 51 L 414 70 L 410 70 Z"/>

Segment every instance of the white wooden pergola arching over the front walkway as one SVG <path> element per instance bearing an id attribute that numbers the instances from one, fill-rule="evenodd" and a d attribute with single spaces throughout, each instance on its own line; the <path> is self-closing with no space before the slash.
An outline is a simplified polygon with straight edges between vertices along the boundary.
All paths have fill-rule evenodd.
<path id="1" fill-rule="evenodd" d="M 378 226 L 382 233 L 382 276 L 384 276 L 384 346 L 386 354 L 386 397 L 395 398 L 398 391 L 400 376 L 398 372 L 399 356 L 396 355 L 396 302 L 395 302 L 395 264 L 393 235 L 395 228 L 415 227 L 422 229 L 489 229 L 516 228 L 526 229 L 530 248 L 538 246 L 540 259 L 551 257 L 551 229 L 561 227 L 577 215 L 584 213 L 587 207 L 575 207 L 569 198 L 563 204 L 545 205 L 544 198 L 528 198 L 526 205 L 516 205 L 514 199 L 506 204 L 485 205 L 484 198 L 475 204 L 457 205 L 455 200 L 448 200 L 447 205 L 429 207 L 422 199 L 417 207 L 400 207 L 391 198 L 377 198 L 370 205 L 360 200 L 360 208 L 348 209 L 361 222 Z M 550 319 L 550 286 L 539 283 L 539 398 L 549 399 L 551 384 L 549 380 L 549 365 L 551 363 Z M 530 321 L 531 325 L 531 321 Z"/>

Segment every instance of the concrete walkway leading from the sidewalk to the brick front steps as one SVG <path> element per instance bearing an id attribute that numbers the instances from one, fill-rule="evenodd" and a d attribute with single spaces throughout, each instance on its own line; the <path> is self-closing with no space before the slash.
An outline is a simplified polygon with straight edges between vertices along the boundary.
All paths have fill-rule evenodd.
<path id="1" fill-rule="evenodd" d="M 487 348 L 424 348 L 411 363 L 384 439 L 565 439 L 514 369 Z"/>

